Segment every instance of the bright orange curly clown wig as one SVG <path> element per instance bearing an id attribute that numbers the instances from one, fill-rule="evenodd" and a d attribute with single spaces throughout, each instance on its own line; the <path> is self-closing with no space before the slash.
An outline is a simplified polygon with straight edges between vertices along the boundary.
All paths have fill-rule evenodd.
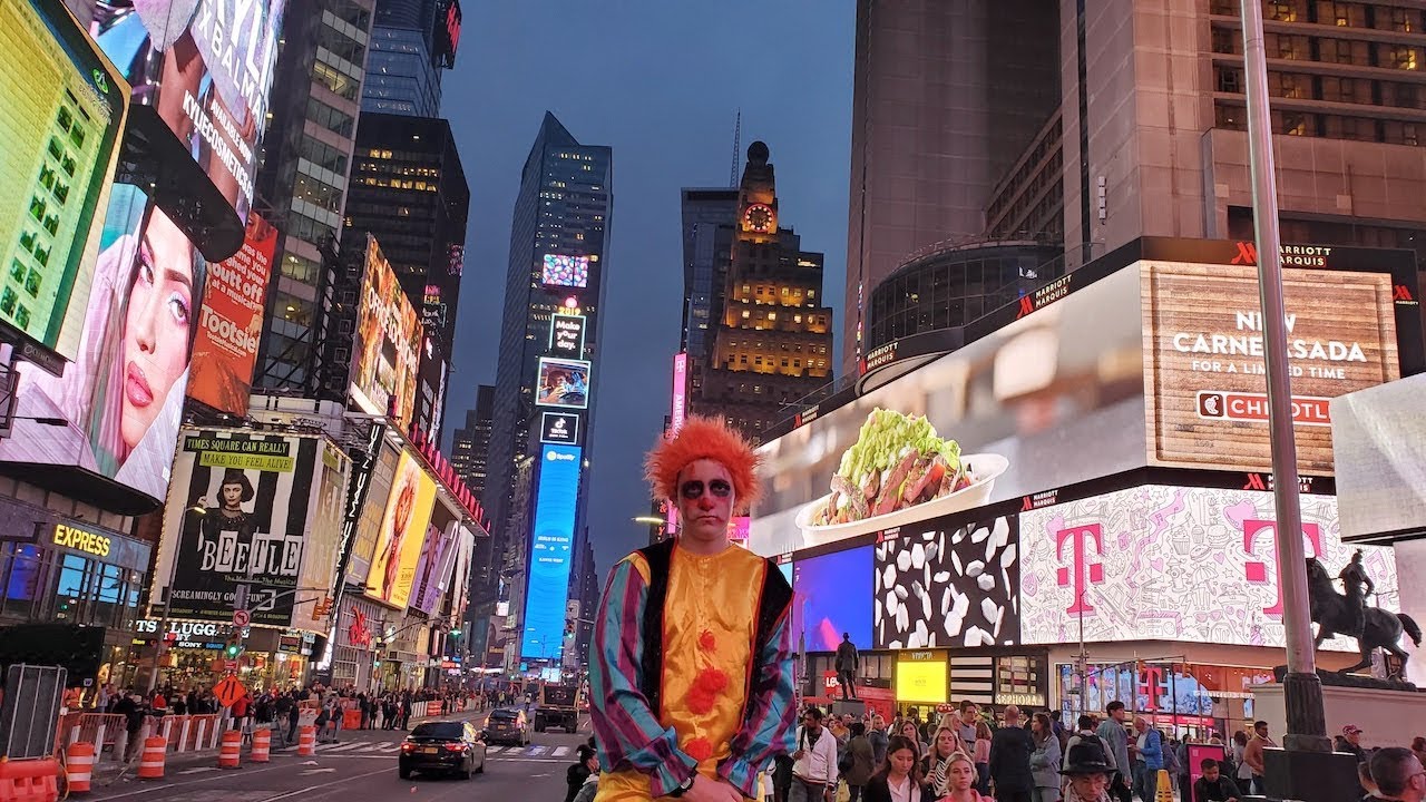
<path id="1" fill-rule="evenodd" d="M 742 509 L 752 509 L 761 495 L 757 482 L 757 467 L 761 457 L 737 431 L 729 428 L 720 418 L 689 415 L 672 440 L 660 440 L 643 462 L 643 475 L 653 487 L 656 498 L 677 501 L 679 472 L 699 460 L 712 460 L 733 478 L 734 502 Z"/>

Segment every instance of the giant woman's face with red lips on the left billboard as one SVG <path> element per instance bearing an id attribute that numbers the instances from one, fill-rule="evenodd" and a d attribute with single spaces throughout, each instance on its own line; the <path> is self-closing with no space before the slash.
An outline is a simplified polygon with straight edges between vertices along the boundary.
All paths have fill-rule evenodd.
<path id="1" fill-rule="evenodd" d="M 188 367 L 193 245 L 154 210 L 138 244 L 124 318 L 124 408 L 120 434 L 134 448 Z"/>

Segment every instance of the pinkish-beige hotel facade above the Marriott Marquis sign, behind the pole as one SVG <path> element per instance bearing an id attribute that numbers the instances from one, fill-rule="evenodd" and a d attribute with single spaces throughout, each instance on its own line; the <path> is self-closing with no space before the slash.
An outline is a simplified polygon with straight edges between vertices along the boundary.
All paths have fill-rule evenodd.
<path id="1" fill-rule="evenodd" d="M 1139 235 L 1252 238 L 1238 13 L 1061 4 L 1067 243 L 1097 257 Z M 1263 7 L 1283 241 L 1426 254 L 1423 21 L 1410 3 Z"/>

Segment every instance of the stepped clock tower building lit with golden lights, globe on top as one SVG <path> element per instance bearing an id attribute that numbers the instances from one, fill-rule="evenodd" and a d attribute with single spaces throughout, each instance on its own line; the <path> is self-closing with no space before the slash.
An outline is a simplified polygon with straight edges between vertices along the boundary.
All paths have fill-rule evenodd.
<path id="1" fill-rule="evenodd" d="M 722 414 L 761 442 L 799 400 L 831 381 L 831 310 L 823 305 L 823 254 L 801 250 L 801 238 L 779 225 L 761 141 L 747 148 L 736 210 L 707 370 L 689 401 L 692 412 Z"/>

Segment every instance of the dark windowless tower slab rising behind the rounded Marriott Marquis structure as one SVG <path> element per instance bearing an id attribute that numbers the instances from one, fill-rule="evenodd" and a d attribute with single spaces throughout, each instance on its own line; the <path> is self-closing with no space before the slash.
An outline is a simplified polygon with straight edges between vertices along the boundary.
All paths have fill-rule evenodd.
<path id="1" fill-rule="evenodd" d="M 1054 0 L 857 0 L 846 374 L 871 290 L 985 230 L 992 190 L 1060 104 L 1058 21 Z"/>

